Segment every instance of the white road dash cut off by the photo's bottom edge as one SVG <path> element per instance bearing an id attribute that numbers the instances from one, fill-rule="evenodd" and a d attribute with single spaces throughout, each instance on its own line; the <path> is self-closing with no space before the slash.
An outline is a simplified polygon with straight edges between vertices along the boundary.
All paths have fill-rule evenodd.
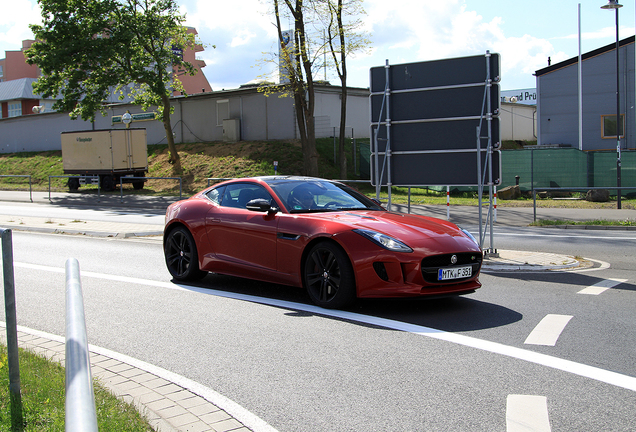
<path id="1" fill-rule="evenodd" d="M 545 396 L 508 395 L 506 432 L 551 432 Z"/>

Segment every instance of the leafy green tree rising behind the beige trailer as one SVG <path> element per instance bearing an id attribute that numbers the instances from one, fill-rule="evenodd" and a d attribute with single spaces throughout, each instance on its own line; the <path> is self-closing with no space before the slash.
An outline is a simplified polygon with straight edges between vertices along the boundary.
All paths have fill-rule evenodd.
<path id="1" fill-rule="evenodd" d="M 170 125 L 170 96 L 183 91 L 173 67 L 193 75 L 179 50 L 194 47 L 175 0 L 38 0 L 42 25 L 32 25 L 36 42 L 27 61 L 42 76 L 34 83 L 44 97 L 61 96 L 54 109 L 71 118 L 93 121 L 106 115 L 104 101 L 113 89 L 144 110 L 157 107 L 170 162 L 181 171 Z M 181 51 L 182 52 L 182 51 Z"/>

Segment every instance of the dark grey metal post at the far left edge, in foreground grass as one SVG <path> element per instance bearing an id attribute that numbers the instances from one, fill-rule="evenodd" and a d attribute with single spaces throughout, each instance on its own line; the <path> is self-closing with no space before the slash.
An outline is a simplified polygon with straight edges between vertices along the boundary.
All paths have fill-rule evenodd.
<path id="1" fill-rule="evenodd" d="M 0 229 L 2 237 L 2 271 L 4 275 L 4 310 L 7 322 L 7 353 L 11 428 L 23 430 L 22 395 L 20 393 L 20 360 L 18 354 L 18 320 L 15 311 L 15 279 L 13 276 L 13 241 L 11 230 Z"/>

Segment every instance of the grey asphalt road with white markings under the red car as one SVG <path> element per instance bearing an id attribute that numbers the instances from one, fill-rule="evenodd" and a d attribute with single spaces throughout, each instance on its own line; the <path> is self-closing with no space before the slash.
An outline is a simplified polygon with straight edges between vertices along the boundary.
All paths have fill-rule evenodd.
<path id="1" fill-rule="evenodd" d="M 483 274 L 470 296 L 342 312 L 238 278 L 175 285 L 158 239 L 13 237 L 18 324 L 64 334 L 63 267 L 75 257 L 90 343 L 208 386 L 281 432 L 636 425 L 634 232 L 498 230 L 499 248 L 595 268 Z"/>

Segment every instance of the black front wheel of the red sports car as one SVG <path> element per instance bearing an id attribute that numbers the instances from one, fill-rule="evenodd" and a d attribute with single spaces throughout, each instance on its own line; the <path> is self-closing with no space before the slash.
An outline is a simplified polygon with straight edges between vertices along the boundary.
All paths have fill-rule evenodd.
<path id="1" fill-rule="evenodd" d="M 311 301 L 328 309 L 339 309 L 356 299 L 356 284 L 347 254 L 330 242 L 311 248 L 304 263 L 303 284 Z"/>

